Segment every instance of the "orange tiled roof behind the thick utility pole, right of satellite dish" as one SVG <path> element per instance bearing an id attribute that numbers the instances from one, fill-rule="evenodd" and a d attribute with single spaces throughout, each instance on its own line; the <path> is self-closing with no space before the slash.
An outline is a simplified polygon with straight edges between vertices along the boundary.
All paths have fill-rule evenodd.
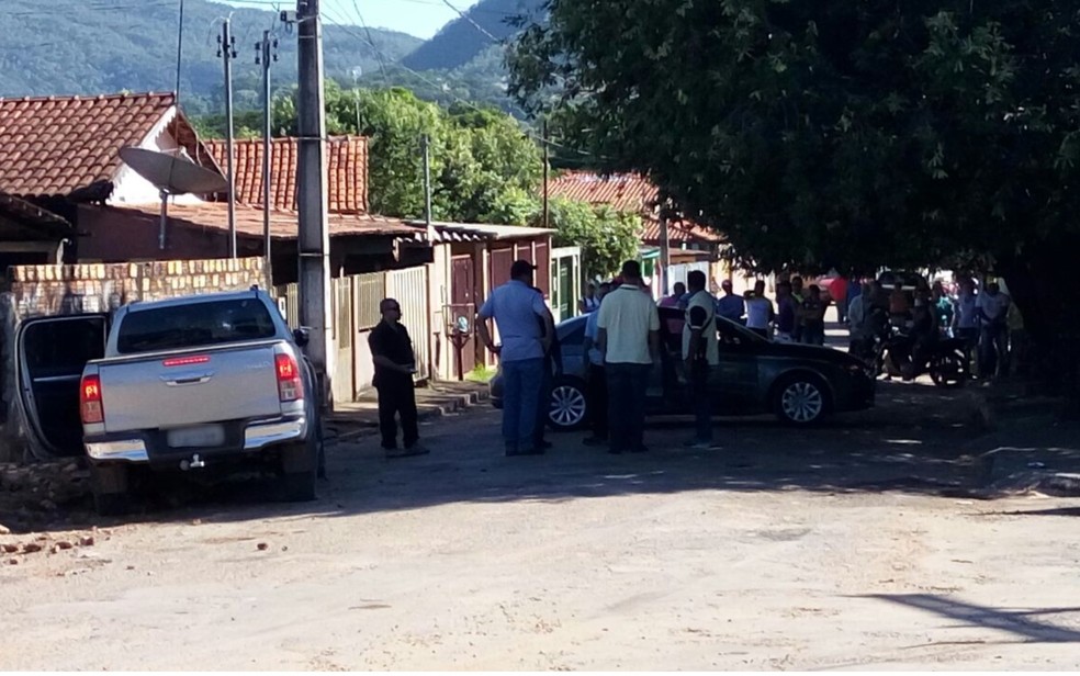
<path id="1" fill-rule="evenodd" d="M 270 150 L 270 201 L 273 209 L 296 209 L 295 138 L 274 138 Z M 224 140 L 206 142 L 206 147 L 224 168 L 227 164 Z M 329 138 L 327 151 L 327 192 L 329 211 L 338 214 L 368 212 L 368 139 L 362 136 Z M 236 201 L 262 204 L 262 139 L 233 142 Z"/>

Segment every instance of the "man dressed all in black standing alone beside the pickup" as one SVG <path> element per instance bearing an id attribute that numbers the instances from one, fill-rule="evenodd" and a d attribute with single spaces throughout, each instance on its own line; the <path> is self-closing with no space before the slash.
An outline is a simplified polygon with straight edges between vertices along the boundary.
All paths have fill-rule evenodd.
<path id="1" fill-rule="evenodd" d="M 402 306 L 394 298 L 379 303 L 382 322 L 368 336 L 371 361 L 375 365 L 374 386 L 379 392 L 379 430 L 382 432 L 382 447 L 386 458 L 423 455 L 428 450 L 420 444 L 416 425 L 416 393 L 413 374 L 416 373 L 416 357 L 413 341 L 401 323 Z M 404 449 L 397 448 L 397 424 L 401 415 L 402 441 Z"/>

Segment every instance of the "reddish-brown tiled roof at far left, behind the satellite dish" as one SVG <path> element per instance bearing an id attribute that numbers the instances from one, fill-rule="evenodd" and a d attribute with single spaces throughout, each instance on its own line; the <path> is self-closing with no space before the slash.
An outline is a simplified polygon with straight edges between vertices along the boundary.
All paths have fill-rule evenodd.
<path id="1" fill-rule="evenodd" d="M 66 195 L 112 180 L 120 148 L 142 143 L 175 102 L 171 93 L 0 99 L 0 189 Z"/>

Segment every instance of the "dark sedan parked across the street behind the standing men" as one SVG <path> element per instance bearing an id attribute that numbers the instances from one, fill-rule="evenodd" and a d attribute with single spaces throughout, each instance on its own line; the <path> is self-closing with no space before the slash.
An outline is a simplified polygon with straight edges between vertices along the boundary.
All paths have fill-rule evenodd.
<path id="1" fill-rule="evenodd" d="M 661 307 L 661 364 L 650 374 L 650 415 L 688 414 L 682 368 L 683 312 Z M 875 379 L 867 364 L 831 348 L 774 342 L 745 327 L 717 317 L 720 365 L 712 369 L 710 393 L 716 415 L 776 414 L 791 425 L 812 425 L 831 414 L 874 405 Z M 678 329 L 678 330 L 676 330 Z M 585 317 L 555 327 L 563 372 L 552 388 L 548 422 L 555 429 L 577 429 L 588 419 L 585 359 L 582 343 Z M 492 404 L 503 405 L 502 373 L 491 382 Z"/>

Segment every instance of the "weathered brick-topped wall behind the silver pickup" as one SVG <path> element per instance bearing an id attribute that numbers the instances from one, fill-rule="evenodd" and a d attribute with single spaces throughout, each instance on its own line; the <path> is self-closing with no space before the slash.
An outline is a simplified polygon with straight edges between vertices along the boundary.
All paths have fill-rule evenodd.
<path id="1" fill-rule="evenodd" d="M 18 408 L 14 335 L 30 317 L 108 313 L 125 303 L 237 291 L 263 283 L 262 259 L 19 266 L 0 290 L 0 462 L 29 449 Z"/>

